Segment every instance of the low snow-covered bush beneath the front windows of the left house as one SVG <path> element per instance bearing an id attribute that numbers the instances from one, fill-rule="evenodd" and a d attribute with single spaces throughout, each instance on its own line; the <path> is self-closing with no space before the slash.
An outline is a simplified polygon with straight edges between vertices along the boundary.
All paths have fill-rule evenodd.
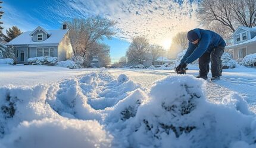
<path id="1" fill-rule="evenodd" d="M 30 65 L 48 65 L 53 66 L 58 62 L 58 57 L 30 57 L 27 59 Z"/>

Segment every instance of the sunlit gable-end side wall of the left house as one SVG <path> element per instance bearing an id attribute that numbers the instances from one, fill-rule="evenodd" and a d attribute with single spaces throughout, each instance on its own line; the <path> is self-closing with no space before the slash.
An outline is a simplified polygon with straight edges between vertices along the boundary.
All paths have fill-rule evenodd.
<path id="1" fill-rule="evenodd" d="M 70 59 L 71 54 L 73 50 L 68 34 L 66 34 L 58 46 L 58 61 Z"/>

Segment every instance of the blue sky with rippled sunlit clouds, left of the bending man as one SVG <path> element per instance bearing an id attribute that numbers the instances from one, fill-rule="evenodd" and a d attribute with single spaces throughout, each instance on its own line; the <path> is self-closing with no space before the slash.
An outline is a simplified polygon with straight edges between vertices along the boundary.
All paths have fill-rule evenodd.
<path id="1" fill-rule="evenodd" d="M 63 21 L 99 14 L 118 22 L 117 35 L 104 40 L 111 47 L 111 58 L 118 59 L 135 36 L 167 48 L 174 34 L 198 26 L 197 8 L 191 0 L 4 0 L 2 21 L 5 29 L 17 25 L 31 31 L 40 25 L 54 30 Z"/>

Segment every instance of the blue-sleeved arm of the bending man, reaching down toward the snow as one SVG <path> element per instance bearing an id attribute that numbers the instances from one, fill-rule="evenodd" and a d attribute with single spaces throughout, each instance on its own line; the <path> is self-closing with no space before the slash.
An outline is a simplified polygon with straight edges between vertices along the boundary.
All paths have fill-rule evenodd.
<path id="1" fill-rule="evenodd" d="M 193 51 L 193 53 L 186 58 L 185 63 L 189 64 L 192 63 L 194 60 L 198 59 L 202 56 L 208 49 L 211 43 L 210 35 L 202 37 L 198 47 Z"/>

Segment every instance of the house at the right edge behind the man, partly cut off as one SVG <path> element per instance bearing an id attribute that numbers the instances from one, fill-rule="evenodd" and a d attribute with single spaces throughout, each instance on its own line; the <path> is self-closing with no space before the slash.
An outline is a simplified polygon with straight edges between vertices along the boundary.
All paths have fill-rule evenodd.
<path id="1" fill-rule="evenodd" d="M 233 59 L 241 62 L 248 54 L 256 53 L 256 27 L 238 27 L 233 33 L 233 45 L 225 47 L 233 50 Z"/>

